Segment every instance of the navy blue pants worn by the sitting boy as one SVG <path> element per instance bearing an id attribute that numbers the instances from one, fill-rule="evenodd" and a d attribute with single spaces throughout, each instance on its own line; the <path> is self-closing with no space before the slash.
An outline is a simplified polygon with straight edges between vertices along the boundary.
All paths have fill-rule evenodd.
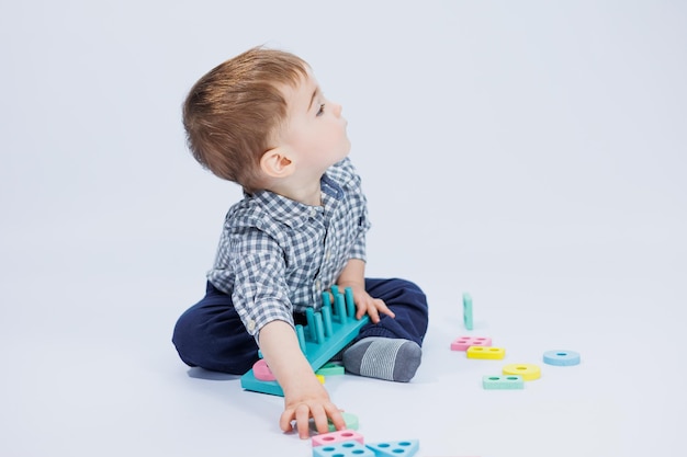
<path id="1" fill-rule="evenodd" d="M 365 290 L 381 298 L 395 318 L 380 315 L 379 323 L 363 325 L 356 340 L 367 336 L 403 338 L 423 345 L 427 332 L 427 298 L 405 279 L 365 279 Z M 302 322 L 302 316 L 294 316 Z M 258 361 L 258 345 L 241 322 L 232 297 L 207 283 L 205 297 L 177 321 L 172 342 L 189 366 L 243 375 Z"/>

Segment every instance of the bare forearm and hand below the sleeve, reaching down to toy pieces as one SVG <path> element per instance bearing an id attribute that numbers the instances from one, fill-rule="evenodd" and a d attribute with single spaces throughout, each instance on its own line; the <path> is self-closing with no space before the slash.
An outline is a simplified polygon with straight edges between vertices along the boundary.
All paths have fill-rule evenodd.
<path id="1" fill-rule="evenodd" d="M 327 418 L 337 430 L 346 429 L 339 409 L 329 400 L 327 390 L 303 355 L 291 324 L 281 320 L 266 324 L 260 330 L 260 351 L 284 391 L 284 412 L 279 421 L 284 432 L 293 429 L 291 422 L 295 420 L 299 436 L 307 438 L 311 416 L 318 433 L 328 432 Z"/>

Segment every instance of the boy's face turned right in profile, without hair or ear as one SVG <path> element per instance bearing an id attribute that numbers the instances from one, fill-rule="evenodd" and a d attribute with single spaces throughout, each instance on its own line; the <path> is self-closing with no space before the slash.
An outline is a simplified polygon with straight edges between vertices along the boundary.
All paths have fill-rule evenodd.
<path id="1" fill-rule="evenodd" d="M 322 175 L 350 151 L 341 105 L 325 99 L 309 71 L 295 88 L 286 88 L 284 95 L 289 114 L 280 139 L 300 170 Z"/>

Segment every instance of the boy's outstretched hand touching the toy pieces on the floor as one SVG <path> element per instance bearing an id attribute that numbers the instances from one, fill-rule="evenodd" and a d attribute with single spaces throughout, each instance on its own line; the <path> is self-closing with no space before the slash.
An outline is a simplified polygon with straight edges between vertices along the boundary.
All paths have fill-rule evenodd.
<path id="1" fill-rule="evenodd" d="M 292 421 L 295 421 L 299 437 L 306 439 L 309 437 L 309 418 L 315 421 L 317 433 L 329 432 L 328 419 L 331 419 L 337 430 L 346 429 L 341 412 L 329 400 L 329 395 L 315 376 L 312 376 L 312 380 L 308 377 L 299 384 L 297 389 L 284 396 L 284 412 L 279 424 L 284 432 L 291 432 L 294 429 Z"/>

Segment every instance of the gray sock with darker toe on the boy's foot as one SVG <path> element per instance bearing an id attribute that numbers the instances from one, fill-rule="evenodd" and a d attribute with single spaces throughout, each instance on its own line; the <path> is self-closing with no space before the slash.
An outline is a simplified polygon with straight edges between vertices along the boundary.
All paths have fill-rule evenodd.
<path id="1" fill-rule="evenodd" d="M 344 353 L 344 366 L 354 375 L 407 382 L 420 366 L 423 350 L 410 340 L 364 338 Z"/>

